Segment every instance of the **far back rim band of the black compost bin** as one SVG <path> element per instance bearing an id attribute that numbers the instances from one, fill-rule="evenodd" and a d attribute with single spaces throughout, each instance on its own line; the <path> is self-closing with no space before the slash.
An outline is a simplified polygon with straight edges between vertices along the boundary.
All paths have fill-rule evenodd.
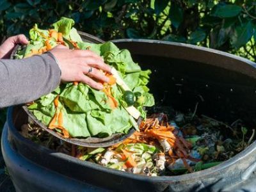
<path id="1" fill-rule="evenodd" d="M 196 61 L 207 65 L 213 65 L 215 67 L 233 70 L 253 78 L 256 77 L 256 63 L 245 58 L 242 58 L 240 56 L 236 56 L 228 52 L 218 51 L 216 49 L 200 47 L 198 45 L 182 44 L 177 42 L 166 42 L 161 40 L 119 39 L 112 40 L 111 42 L 120 44 L 131 42 L 134 43 L 135 46 L 133 46 L 133 49 L 130 50 L 131 53 L 134 52 L 133 50 L 134 47 L 136 47 L 136 44 L 142 44 L 142 46 L 143 44 L 145 44 L 144 49 L 141 49 L 141 45 L 139 46 L 139 49 L 136 49 L 136 54 L 143 54 L 148 56 L 163 56 L 166 58 L 172 56 L 172 58 L 182 58 L 183 60 Z M 154 44 L 156 45 L 156 47 L 154 47 L 154 49 L 147 49 L 147 45 L 149 44 Z M 164 47 L 166 45 L 171 45 L 172 47 L 175 47 L 175 49 L 166 49 L 166 47 Z M 157 46 L 159 46 L 161 49 L 157 49 L 159 48 Z M 184 49 L 189 49 L 190 54 L 184 54 L 184 51 L 186 52 L 186 50 Z M 225 58 L 226 60 L 223 60 L 223 58 Z M 248 65 L 244 65 L 244 63 Z"/>

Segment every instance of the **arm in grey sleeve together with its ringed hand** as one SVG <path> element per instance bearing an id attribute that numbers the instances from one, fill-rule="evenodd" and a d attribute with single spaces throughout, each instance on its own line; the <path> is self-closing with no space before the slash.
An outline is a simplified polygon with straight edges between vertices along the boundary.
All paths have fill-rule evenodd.
<path id="1" fill-rule="evenodd" d="M 60 81 L 79 81 L 98 90 L 103 88 L 102 84 L 93 79 L 109 81 L 99 69 L 111 72 L 111 68 L 92 51 L 57 46 L 51 52 L 59 65 L 48 54 L 22 60 L 0 60 L 0 108 L 38 99 L 52 92 Z M 86 76 L 91 68 L 90 77 Z"/>

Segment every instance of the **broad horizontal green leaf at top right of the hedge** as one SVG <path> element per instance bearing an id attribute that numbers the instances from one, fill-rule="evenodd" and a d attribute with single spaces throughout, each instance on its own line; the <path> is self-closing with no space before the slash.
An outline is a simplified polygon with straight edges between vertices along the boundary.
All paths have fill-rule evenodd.
<path id="1" fill-rule="evenodd" d="M 213 9 L 211 15 L 214 17 L 235 17 L 241 12 L 242 8 L 234 4 L 217 4 Z"/>

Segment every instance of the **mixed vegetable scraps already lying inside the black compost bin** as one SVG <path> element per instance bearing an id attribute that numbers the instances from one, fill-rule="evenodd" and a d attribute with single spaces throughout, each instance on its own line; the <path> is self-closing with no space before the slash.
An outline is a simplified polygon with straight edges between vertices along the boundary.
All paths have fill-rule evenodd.
<path id="1" fill-rule="evenodd" d="M 240 119 L 228 125 L 209 116 L 175 111 L 174 115 L 148 114 L 140 124 L 140 132 L 108 148 L 66 143 L 32 120 L 22 126 L 21 134 L 82 161 L 124 172 L 160 176 L 196 172 L 220 164 L 248 147 L 255 130 L 246 129 Z"/>

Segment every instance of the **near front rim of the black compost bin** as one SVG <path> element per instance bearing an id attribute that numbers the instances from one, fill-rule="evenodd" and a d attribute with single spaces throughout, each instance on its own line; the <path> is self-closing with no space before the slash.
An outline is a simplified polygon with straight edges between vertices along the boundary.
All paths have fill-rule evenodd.
<path id="1" fill-rule="evenodd" d="M 8 138 L 15 138 L 14 140 L 20 140 L 23 142 L 25 145 L 30 145 L 32 148 L 35 148 L 36 150 L 42 150 L 43 152 L 47 152 L 49 156 L 54 156 L 56 158 L 60 159 L 65 159 L 69 162 L 80 164 L 82 166 L 86 166 L 89 168 L 92 168 L 94 170 L 100 171 L 100 172 L 108 172 L 108 173 L 113 173 L 115 175 L 118 175 L 120 177 L 127 177 L 129 179 L 136 179 L 136 180 L 152 180 L 154 182 L 177 182 L 177 181 L 185 181 L 185 180 L 191 180 L 193 179 L 200 179 L 202 177 L 205 177 L 209 174 L 219 172 L 229 166 L 232 166 L 232 164 L 237 163 L 240 159 L 245 158 L 246 156 L 249 156 L 250 153 L 256 150 L 256 141 L 253 141 L 251 145 L 249 145 L 247 148 L 245 148 L 242 152 L 239 154 L 236 154 L 236 156 L 232 157 L 231 159 L 228 159 L 227 161 L 220 163 L 216 166 L 213 166 L 212 168 L 208 168 L 206 170 L 201 170 L 198 172 L 194 173 L 187 173 L 184 175 L 172 175 L 172 176 L 157 176 L 157 177 L 150 177 L 147 175 L 138 175 L 138 174 L 133 174 L 133 173 L 127 173 L 127 172 L 122 172 L 119 170 L 111 169 L 104 167 L 100 164 L 97 163 L 92 163 L 89 161 L 81 161 L 77 159 L 76 157 L 68 156 L 67 154 L 63 154 L 60 152 L 55 152 L 54 150 L 51 150 L 47 147 L 44 147 L 42 145 L 39 145 L 38 143 L 35 143 L 31 140 L 28 140 L 27 138 L 24 138 L 17 129 L 15 129 L 13 125 L 13 109 L 17 108 L 19 106 L 11 106 L 8 108 L 7 111 L 7 124 L 10 129 L 10 132 L 12 132 L 11 136 L 9 135 L 10 132 L 8 131 Z M 28 158 L 24 156 L 25 158 Z M 36 163 L 36 162 L 35 162 Z M 38 164 L 38 163 L 36 163 Z"/>

